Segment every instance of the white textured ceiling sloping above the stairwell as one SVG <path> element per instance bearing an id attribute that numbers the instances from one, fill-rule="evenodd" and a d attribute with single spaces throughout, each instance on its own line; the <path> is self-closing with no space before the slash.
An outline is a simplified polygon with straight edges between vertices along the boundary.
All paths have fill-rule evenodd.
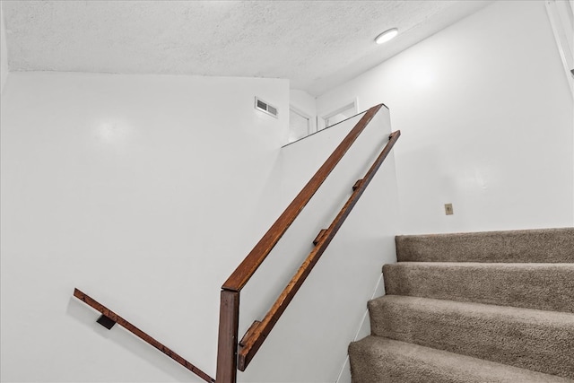
<path id="1" fill-rule="evenodd" d="M 4 1 L 11 71 L 286 78 L 318 95 L 490 1 Z M 399 36 L 378 46 L 389 28 Z"/>

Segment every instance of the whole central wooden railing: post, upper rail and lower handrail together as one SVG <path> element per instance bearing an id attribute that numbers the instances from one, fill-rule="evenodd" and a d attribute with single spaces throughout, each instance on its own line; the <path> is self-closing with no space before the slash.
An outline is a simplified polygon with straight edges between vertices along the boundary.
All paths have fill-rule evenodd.
<path id="1" fill-rule="evenodd" d="M 380 152 L 377 160 L 371 165 L 365 177 L 358 180 L 352 186 L 352 196 L 349 197 L 349 200 L 341 212 L 337 214 L 329 228 L 319 232 L 317 238 L 313 241 L 316 247 L 300 266 L 297 273 L 291 278 L 291 282 L 285 287 L 279 298 L 275 301 L 274 306 L 265 315 L 265 318 L 262 321 L 256 320 L 238 344 L 239 293 L 241 289 L 243 289 L 249 279 L 255 274 L 257 268 L 265 260 L 265 257 L 269 255 L 279 239 L 281 239 L 283 234 L 289 229 L 291 223 L 297 218 L 305 205 L 309 203 L 311 197 L 315 195 L 317 189 L 323 184 L 326 177 L 335 169 L 337 163 L 341 161 L 344 154 L 383 106 L 383 104 L 379 104 L 367 110 L 357 125 L 345 136 L 341 144 L 335 148 L 335 151 L 327 158 L 319 170 L 317 170 L 307 185 L 302 188 L 291 204 L 287 206 L 263 238 L 257 242 L 257 245 L 251 250 L 248 256 L 239 264 L 227 281 L 223 283 L 217 354 L 217 383 L 235 383 L 237 370 L 245 370 L 247 368 L 249 362 L 253 359 L 253 356 L 257 353 L 257 350 L 261 344 L 263 344 L 265 338 L 269 335 L 275 323 L 279 320 L 283 311 L 287 308 L 314 265 L 317 264 L 319 257 L 325 252 L 325 249 L 333 237 L 335 237 L 336 232 L 346 217 L 351 213 L 352 207 L 357 203 L 365 188 L 369 185 L 370 180 L 374 177 L 378 168 L 387 157 L 387 154 L 396 143 L 400 131 L 396 131 L 389 136 L 387 145 L 383 151 Z M 240 351 L 238 353 L 239 347 Z"/>

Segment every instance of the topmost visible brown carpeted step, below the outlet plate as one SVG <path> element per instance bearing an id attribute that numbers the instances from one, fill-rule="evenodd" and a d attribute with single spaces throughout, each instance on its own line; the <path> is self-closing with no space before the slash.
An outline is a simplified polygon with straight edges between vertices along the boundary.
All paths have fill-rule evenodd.
<path id="1" fill-rule="evenodd" d="M 574 228 L 396 237 L 399 262 L 574 262 Z"/>

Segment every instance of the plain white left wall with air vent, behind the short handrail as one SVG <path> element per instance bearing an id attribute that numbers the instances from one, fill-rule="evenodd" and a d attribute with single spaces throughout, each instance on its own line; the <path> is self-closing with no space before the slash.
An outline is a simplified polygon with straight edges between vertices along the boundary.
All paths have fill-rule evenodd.
<path id="1" fill-rule="evenodd" d="M 2 381 L 201 381 L 219 292 L 282 207 L 285 80 L 13 73 L 1 114 Z"/>

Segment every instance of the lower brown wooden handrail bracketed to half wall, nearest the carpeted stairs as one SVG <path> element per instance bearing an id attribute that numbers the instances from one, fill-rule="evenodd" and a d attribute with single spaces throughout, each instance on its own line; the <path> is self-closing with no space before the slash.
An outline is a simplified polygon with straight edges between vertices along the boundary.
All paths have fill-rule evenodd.
<path id="1" fill-rule="evenodd" d="M 337 214 L 329 228 L 326 229 L 326 231 L 321 231 L 317 236 L 317 244 L 315 248 L 311 250 L 309 256 L 305 259 L 303 264 L 300 265 L 299 270 L 293 275 L 291 281 L 287 284 L 281 295 L 279 295 L 279 298 L 277 298 L 273 307 L 265 315 L 265 318 L 261 321 L 255 321 L 253 325 L 249 327 L 248 333 L 243 337 L 239 344 L 239 370 L 243 371 L 248 367 L 249 361 L 253 359 L 253 356 L 257 353 L 257 350 L 259 350 L 259 347 L 261 347 L 261 344 L 263 344 L 267 335 L 269 335 L 275 326 L 275 323 L 277 323 L 277 320 L 281 318 L 283 311 L 287 309 L 287 306 L 299 291 L 301 284 L 305 282 L 307 276 L 317 264 L 321 255 L 323 255 L 326 248 L 329 246 L 329 243 L 331 243 L 331 240 L 335 237 L 336 232 L 339 230 L 349 213 L 351 213 L 354 205 L 359 201 L 365 188 L 377 173 L 380 165 L 387 158 L 388 153 L 391 151 L 400 135 L 401 132 L 397 130 L 389 136 L 388 143 L 378 155 L 377 160 L 373 162 L 370 169 L 365 174 L 365 177 L 357 181 L 352 187 L 352 195 L 349 197 L 341 211 Z"/>

